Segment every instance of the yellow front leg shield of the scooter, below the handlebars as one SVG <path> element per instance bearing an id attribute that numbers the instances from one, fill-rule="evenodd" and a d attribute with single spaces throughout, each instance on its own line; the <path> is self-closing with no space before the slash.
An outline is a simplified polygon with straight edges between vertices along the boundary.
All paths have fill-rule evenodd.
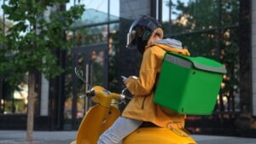
<path id="1" fill-rule="evenodd" d="M 107 114 L 105 114 L 107 113 Z M 77 134 L 77 144 L 96 144 L 99 136 L 120 115 L 116 107 L 91 107 L 81 122 Z"/>

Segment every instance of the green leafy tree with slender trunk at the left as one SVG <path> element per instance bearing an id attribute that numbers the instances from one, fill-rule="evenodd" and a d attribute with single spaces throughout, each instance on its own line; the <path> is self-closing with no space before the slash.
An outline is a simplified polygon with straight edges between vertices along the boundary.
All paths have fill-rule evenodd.
<path id="1" fill-rule="evenodd" d="M 0 73 L 15 87 L 28 72 L 27 141 L 32 141 L 35 75 L 43 73 L 49 79 L 63 72 L 57 65 L 55 50 L 72 48 L 73 42 L 66 40 L 65 32 L 84 12 L 80 4 L 65 10 L 68 2 L 9 0 L 8 5 L 3 5 L 7 19 L 14 21 L 14 25 L 0 38 Z M 55 10 L 45 18 L 48 9 Z"/>

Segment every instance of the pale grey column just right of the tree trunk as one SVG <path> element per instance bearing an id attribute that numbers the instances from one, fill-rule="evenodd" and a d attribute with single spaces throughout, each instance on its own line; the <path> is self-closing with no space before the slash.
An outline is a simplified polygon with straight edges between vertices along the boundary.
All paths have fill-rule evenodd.
<path id="1" fill-rule="evenodd" d="M 41 116 L 48 116 L 49 110 L 49 81 L 42 75 L 41 82 L 41 101 L 40 101 L 40 114 Z"/>

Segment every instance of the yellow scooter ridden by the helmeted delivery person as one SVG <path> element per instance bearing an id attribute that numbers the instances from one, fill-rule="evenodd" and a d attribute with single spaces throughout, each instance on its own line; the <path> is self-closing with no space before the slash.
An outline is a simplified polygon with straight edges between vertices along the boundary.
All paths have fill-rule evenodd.
<path id="1" fill-rule="evenodd" d="M 121 94 L 116 94 L 95 86 L 90 89 L 86 96 L 91 97 L 96 105 L 90 107 L 90 110 L 84 116 L 79 126 L 76 141 L 71 144 L 96 144 L 100 135 L 107 130 L 111 124 L 119 117 L 120 112 L 113 103 L 113 100 L 124 101 L 124 90 Z M 182 127 L 160 128 L 143 127 L 138 128 L 131 135 L 125 137 L 123 144 L 196 144 L 195 140 Z"/>

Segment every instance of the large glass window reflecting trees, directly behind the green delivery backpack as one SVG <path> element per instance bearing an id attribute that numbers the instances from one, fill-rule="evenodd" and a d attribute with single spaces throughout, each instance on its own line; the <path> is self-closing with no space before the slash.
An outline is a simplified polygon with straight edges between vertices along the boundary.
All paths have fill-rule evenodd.
<path id="1" fill-rule="evenodd" d="M 240 111 L 239 0 L 164 0 L 162 13 L 167 36 L 180 40 L 191 55 L 218 60 L 226 66 L 217 111 Z"/>

